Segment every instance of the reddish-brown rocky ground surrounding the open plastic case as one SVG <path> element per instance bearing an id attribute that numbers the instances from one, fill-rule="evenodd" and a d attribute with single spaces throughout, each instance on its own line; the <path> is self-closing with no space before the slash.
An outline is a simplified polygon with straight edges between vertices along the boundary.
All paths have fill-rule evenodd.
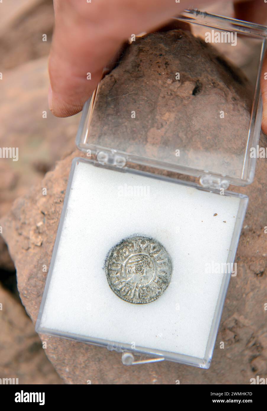
<path id="1" fill-rule="evenodd" d="M 0 162 L 0 378 L 18 377 L 20 383 L 175 384 L 179 379 L 181 384 L 248 384 L 256 375 L 266 377 L 266 159 L 258 159 L 252 185 L 230 187 L 249 195 L 250 202 L 237 250 L 237 277 L 230 281 L 209 370 L 175 363 L 125 367 L 114 351 L 45 335 L 40 341 L 32 321 L 41 302 L 46 279 L 42 266 L 49 267 L 71 159 L 81 155 L 74 144 L 79 115 L 58 119 L 47 107 L 52 1 L 15 4 L 16 0 L 3 2 L 6 17 L 0 14 L 5 96 L 0 102 L 0 147 L 8 141 L 19 148 L 18 162 Z M 230 13 L 227 10 L 223 7 L 219 12 Z M 44 33 L 47 42 L 42 41 Z M 240 56 L 244 57 L 242 51 Z M 260 146 L 267 147 L 263 135 Z M 29 316 L 16 293 L 14 265 Z M 219 348 L 221 341 L 224 349 Z"/>

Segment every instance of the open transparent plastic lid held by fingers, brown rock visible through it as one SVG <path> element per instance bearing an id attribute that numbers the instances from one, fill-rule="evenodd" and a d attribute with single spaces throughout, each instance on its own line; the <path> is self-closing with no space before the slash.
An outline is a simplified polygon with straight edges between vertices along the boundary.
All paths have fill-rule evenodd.
<path id="1" fill-rule="evenodd" d="M 102 163 L 250 184 L 267 28 L 198 11 L 173 22 L 186 30 L 132 36 L 85 103 L 76 145 Z"/>

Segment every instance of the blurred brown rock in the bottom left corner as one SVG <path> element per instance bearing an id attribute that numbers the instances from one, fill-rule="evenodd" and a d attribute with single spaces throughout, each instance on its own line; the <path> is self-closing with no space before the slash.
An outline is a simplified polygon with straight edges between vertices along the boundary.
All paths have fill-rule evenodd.
<path id="1" fill-rule="evenodd" d="M 0 286 L 0 378 L 19 384 L 62 384 L 25 310 Z"/>

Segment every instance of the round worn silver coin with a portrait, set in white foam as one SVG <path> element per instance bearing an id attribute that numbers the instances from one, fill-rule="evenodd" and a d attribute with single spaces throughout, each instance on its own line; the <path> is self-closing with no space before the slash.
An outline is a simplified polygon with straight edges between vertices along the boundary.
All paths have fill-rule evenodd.
<path id="1" fill-rule="evenodd" d="M 171 275 L 170 256 L 153 238 L 122 240 L 106 259 L 110 288 L 122 300 L 134 304 L 157 300 L 170 284 Z"/>

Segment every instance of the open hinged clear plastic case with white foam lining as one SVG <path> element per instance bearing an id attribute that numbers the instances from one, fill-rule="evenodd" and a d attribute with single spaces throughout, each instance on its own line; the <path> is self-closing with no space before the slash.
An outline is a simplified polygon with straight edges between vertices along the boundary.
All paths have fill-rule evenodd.
<path id="1" fill-rule="evenodd" d="M 142 64 L 149 64 L 154 44 L 136 36 L 84 106 L 76 144 L 91 159 L 72 163 L 36 329 L 122 353 L 208 368 L 231 274 L 214 277 L 204 267 L 208 256 L 223 264 L 235 260 L 248 198 L 225 190 L 253 180 L 250 148 L 260 134 L 266 28 L 197 11 L 184 12 L 177 22 L 186 23 L 186 30 L 156 36 L 160 42 L 176 36 L 173 52 L 181 56 L 180 67 L 172 66 L 172 58 L 161 61 L 159 53 L 157 67 L 147 70 Z M 205 44 L 221 32 L 233 33 L 220 37 L 230 43 L 214 43 L 213 48 Z M 187 46 L 179 45 L 180 36 L 186 37 Z M 198 66 L 190 61 L 192 36 L 198 37 L 204 60 L 212 61 L 221 83 L 214 77 L 212 85 L 214 72 L 202 72 L 204 62 Z M 244 49 L 251 52 L 246 61 Z M 147 56 L 145 61 L 136 58 L 140 53 Z M 182 61 L 189 67 L 187 77 Z M 237 62 L 240 71 L 232 66 Z M 139 87 L 131 81 L 133 67 L 143 74 L 137 76 Z M 121 71 L 126 73 L 122 80 Z M 141 96 L 137 89 L 143 90 Z M 155 106 L 152 96 L 165 104 Z M 183 99 L 191 113 L 186 118 Z M 173 112 L 175 106 L 182 114 Z M 166 175 L 157 175 L 158 169 Z M 180 173 L 180 179 L 170 178 L 169 172 Z M 181 174 L 200 178 L 200 184 L 181 180 Z M 118 198 L 118 187 L 124 187 L 123 198 Z M 150 196 L 140 199 L 128 193 L 129 187 L 150 187 Z M 175 262 L 172 285 L 143 311 L 113 295 L 104 272 L 109 249 L 136 233 L 157 236 Z M 85 246 L 90 250 L 87 259 Z"/>

